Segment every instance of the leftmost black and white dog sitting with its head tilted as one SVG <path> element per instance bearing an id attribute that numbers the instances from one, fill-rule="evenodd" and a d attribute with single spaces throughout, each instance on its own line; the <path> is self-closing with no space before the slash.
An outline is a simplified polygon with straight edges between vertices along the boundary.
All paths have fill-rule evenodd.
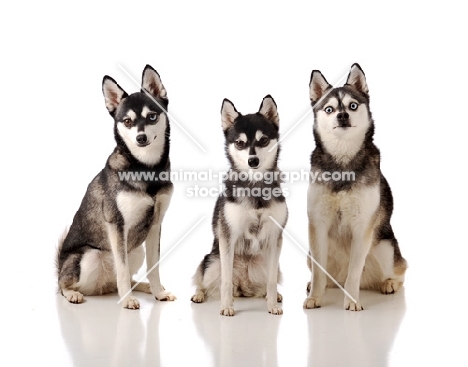
<path id="1" fill-rule="evenodd" d="M 118 291 L 124 308 L 140 304 L 131 290 L 152 293 L 160 301 L 175 296 L 161 285 L 159 267 L 161 223 L 169 206 L 173 184 L 141 180 L 124 174 L 147 173 L 169 177 L 168 98 L 159 74 L 150 65 L 143 70 L 141 91 L 128 95 L 105 76 L 102 91 L 114 119 L 117 143 L 104 169 L 91 181 L 73 223 L 59 241 L 58 285 L 71 303 L 83 296 Z M 132 283 L 145 259 L 148 283 Z"/>

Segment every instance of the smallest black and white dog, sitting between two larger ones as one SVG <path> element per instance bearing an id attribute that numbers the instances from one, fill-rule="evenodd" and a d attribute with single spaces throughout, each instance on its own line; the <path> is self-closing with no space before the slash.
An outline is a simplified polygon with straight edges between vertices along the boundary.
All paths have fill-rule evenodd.
<path id="1" fill-rule="evenodd" d="M 268 95 L 257 113 L 242 115 L 225 99 L 221 121 L 230 170 L 214 209 L 213 247 L 195 273 L 192 301 L 220 295 L 220 314 L 233 316 L 234 297 L 266 297 L 268 312 L 280 315 L 279 256 L 288 210 L 277 166 L 277 106 Z"/>

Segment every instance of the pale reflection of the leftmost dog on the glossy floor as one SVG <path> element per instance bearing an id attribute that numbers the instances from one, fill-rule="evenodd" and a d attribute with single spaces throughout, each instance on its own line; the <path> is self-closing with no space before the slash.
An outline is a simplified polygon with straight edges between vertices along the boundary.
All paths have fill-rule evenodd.
<path id="1" fill-rule="evenodd" d="M 154 304 L 149 315 L 145 315 L 142 310 L 120 307 L 115 295 L 99 298 L 99 304 L 89 297 L 87 302 L 75 305 L 57 296 L 60 327 L 73 364 L 158 366 L 161 307 Z M 145 318 L 147 322 L 144 323 Z"/>

